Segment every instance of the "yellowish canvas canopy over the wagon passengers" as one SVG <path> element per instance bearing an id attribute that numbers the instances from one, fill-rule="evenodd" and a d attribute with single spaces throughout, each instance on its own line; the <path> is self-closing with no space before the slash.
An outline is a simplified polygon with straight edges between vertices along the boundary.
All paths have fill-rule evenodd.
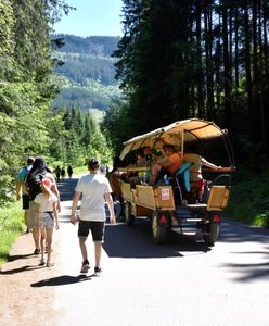
<path id="1" fill-rule="evenodd" d="M 178 121 L 166 127 L 125 141 L 120 159 L 123 160 L 130 151 L 145 146 L 153 148 L 162 147 L 162 143 L 172 143 L 181 147 L 183 142 L 217 138 L 226 136 L 226 130 L 221 130 L 214 122 L 200 118 Z"/>

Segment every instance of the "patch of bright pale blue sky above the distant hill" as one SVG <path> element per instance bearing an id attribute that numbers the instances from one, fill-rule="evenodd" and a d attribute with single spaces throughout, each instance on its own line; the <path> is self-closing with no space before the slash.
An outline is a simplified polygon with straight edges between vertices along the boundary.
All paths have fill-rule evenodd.
<path id="1" fill-rule="evenodd" d="M 123 35 L 121 0 L 66 0 L 77 10 L 63 16 L 53 26 L 55 33 L 76 36 L 120 36 Z"/>

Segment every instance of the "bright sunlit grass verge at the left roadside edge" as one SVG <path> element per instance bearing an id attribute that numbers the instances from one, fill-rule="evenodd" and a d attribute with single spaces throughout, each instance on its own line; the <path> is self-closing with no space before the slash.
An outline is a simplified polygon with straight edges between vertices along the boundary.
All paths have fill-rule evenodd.
<path id="1" fill-rule="evenodd" d="M 12 244 L 25 228 L 21 202 L 0 209 L 0 268 L 8 260 Z"/>

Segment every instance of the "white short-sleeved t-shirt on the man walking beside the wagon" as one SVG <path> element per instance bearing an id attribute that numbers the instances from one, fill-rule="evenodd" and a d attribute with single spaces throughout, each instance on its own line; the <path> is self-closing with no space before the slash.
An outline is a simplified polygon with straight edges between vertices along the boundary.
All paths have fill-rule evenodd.
<path id="1" fill-rule="evenodd" d="M 102 174 L 87 174 L 78 180 L 75 191 L 82 193 L 80 220 L 104 222 L 104 195 L 112 192 L 107 178 Z"/>

